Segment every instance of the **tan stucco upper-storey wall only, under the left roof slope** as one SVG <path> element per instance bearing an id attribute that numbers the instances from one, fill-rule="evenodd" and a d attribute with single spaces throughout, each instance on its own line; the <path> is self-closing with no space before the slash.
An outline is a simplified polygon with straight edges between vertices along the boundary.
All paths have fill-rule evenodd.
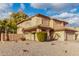
<path id="1" fill-rule="evenodd" d="M 18 24 L 17 26 L 28 28 L 28 27 L 33 27 L 33 26 L 36 26 L 36 25 L 40 25 L 41 23 L 42 23 L 41 18 L 33 17 L 31 20 L 22 22 L 22 23 Z"/>

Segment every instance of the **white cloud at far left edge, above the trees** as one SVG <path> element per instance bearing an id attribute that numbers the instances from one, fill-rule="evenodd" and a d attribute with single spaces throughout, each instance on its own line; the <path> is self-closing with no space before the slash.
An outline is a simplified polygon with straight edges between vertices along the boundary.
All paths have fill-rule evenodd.
<path id="1" fill-rule="evenodd" d="M 1 3 L 0 4 L 0 19 L 8 17 L 9 13 L 11 12 L 10 7 L 12 4 L 8 3 Z"/>

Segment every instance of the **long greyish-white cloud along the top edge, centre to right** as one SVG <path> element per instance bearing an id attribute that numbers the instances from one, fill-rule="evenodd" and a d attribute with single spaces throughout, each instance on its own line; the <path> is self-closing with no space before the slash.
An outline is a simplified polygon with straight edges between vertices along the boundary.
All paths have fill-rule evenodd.
<path id="1" fill-rule="evenodd" d="M 31 5 L 31 7 L 34 7 L 34 8 L 54 8 L 55 10 L 56 9 L 62 9 L 62 8 L 65 8 L 66 9 L 66 7 L 68 8 L 72 8 L 72 6 L 73 7 L 76 7 L 76 6 L 78 6 L 79 4 L 75 4 L 75 3 L 31 3 L 30 4 Z"/>

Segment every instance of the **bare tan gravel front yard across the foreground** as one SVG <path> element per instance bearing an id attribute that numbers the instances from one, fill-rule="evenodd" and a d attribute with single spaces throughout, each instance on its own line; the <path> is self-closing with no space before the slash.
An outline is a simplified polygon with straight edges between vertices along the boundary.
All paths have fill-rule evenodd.
<path id="1" fill-rule="evenodd" d="M 0 42 L 0 55 L 2 56 L 62 56 L 79 55 L 79 42 L 77 41 L 9 41 Z"/>

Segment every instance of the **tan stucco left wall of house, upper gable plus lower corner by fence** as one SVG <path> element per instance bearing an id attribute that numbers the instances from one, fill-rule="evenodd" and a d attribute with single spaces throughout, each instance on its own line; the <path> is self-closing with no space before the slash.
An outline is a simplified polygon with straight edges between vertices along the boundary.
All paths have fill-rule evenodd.
<path id="1" fill-rule="evenodd" d="M 23 34 L 23 28 L 34 27 L 40 25 L 42 23 L 42 19 L 38 17 L 33 17 L 32 20 L 25 21 L 23 23 L 18 24 L 17 34 Z"/>

